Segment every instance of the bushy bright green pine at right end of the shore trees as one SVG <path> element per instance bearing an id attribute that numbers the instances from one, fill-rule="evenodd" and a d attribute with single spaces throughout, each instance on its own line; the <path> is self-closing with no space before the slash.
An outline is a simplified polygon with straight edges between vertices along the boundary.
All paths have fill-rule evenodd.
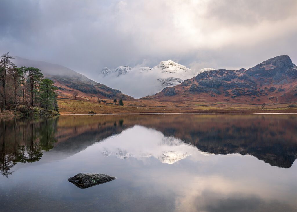
<path id="1" fill-rule="evenodd" d="M 40 83 L 40 101 L 41 106 L 46 110 L 54 109 L 55 90 L 54 82 L 50 79 L 44 79 Z"/>

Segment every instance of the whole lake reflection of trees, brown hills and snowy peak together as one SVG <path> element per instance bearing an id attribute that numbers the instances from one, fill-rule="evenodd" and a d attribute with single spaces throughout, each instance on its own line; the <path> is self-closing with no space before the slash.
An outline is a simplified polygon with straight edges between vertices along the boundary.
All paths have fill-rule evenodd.
<path id="1" fill-rule="evenodd" d="M 101 149 L 101 153 L 122 159 L 154 156 L 172 164 L 196 147 L 205 153 L 250 154 L 282 168 L 291 167 L 297 158 L 295 115 L 61 116 L 1 121 L 1 173 L 10 175 L 18 162 L 39 161 L 52 148 L 75 154 L 133 126 L 138 133 L 125 138 L 129 143 L 115 139 L 111 149 Z M 137 135 L 146 130 L 151 130 L 151 142 L 139 145 L 146 138 Z"/>

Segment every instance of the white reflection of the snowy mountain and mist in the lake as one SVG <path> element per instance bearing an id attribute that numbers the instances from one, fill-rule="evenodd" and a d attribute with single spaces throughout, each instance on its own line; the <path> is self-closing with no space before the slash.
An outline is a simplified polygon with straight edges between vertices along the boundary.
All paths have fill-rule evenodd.
<path id="1" fill-rule="evenodd" d="M 197 152 L 192 145 L 187 145 L 178 138 L 166 137 L 159 131 L 138 125 L 94 145 L 94 148 L 105 157 L 111 155 L 121 159 L 155 157 L 162 163 L 168 164 L 186 158 L 191 152 Z"/>

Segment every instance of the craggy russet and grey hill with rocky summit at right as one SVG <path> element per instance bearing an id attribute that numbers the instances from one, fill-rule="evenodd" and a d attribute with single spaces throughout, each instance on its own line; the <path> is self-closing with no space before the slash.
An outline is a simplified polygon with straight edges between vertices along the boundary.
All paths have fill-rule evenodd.
<path id="1" fill-rule="evenodd" d="M 297 66 L 283 55 L 247 70 L 204 71 L 146 98 L 255 104 L 292 102 L 297 98 Z"/>

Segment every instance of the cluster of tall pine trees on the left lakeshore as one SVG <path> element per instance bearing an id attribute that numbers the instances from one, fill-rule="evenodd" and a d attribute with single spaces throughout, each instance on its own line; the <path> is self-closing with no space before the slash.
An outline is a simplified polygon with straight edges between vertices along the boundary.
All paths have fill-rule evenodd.
<path id="1" fill-rule="evenodd" d="M 53 81 L 43 79 L 38 68 L 15 66 L 12 59 L 9 53 L 0 57 L 0 111 L 19 104 L 58 110 Z"/>

